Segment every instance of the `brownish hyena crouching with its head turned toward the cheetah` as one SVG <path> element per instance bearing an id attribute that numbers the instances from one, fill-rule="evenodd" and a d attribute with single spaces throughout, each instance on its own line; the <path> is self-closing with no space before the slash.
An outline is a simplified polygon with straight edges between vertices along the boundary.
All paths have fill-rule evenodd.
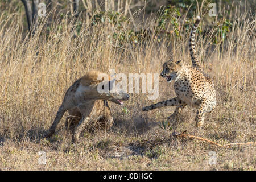
<path id="1" fill-rule="evenodd" d="M 101 126 L 103 125 L 103 127 L 111 127 L 113 125 L 113 117 L 107 101 L 121 105 L 123 101 L 129 100 L 130 97 L 123 90 L 113 89 L 114 81 L 110 80 L 108 74 L 100 71 L 89 71 L 75 81 L 65 93 L 63 102 L 45 137 L 49 138 L 55 133 L 56 126 L 67 110 L 73 118 L 68 117 L 66 119 L 66 129 L 70 124 L 77 124 L 72 137 L 73 143 L 79 140 L 81 131 L 92 121 L 99 123 Z M 103 91 L 99 92 L 99 88 Z M 78 122 L 74 118 L 80 118 L 80 121 Z"/>

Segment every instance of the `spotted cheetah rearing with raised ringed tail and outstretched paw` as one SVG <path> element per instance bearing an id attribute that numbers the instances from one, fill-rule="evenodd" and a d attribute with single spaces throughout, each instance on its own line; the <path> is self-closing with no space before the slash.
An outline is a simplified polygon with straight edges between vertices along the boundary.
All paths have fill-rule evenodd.
<path id="1" fill-rule="evenodd" d="M 176 117 L 185 106 L 197 109 L 196 127 L 201 128 L 204 123 L 205 113 L 211 113 L 216 106 L 216 93 L 213 78 L 204 73 L 195 49 L 195 34 L 200 23 L 200 16 L 191 30 L 189 37 L 189 51 L 192 60 L 192 67 L 183 60 L 168 60 L 163 64 L 163 71 L 160 75 L 166 78 L 167 82 L 174 81 L 174 89 L 177 97 L 167 101 L 143 107 L 148 111 L 164 106 L 176 106 L 174 113 L 168 119 Z"/>

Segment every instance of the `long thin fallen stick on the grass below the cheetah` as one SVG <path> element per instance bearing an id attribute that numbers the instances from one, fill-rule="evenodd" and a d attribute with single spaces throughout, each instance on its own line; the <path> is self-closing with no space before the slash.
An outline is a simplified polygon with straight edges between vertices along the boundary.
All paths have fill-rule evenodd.
<path id="1" fill-rule="evenodd" d="M 228 143 L 228 144 L 221 145 L 221 144 L 218 144 L 216 142 L 213 142 L 211 140 L 208 140 L 208 139 L 205 139 L 205 138 L 202 138 L 202 137 L 197 137 L 195 135 L 186 134 L 186 132 L 187 132 L 187 130 L 183 131 L 183 133 L 180 134 L 180 133 L 176 133 L 176 131 L 174 131 L 172 133 L 172 136 L 195 138 L 195 139 L 202 140 L 202 141 L 210 143 L 210 144 L 214 144 L 218 147 L 225 147 L 225 148 L 229 148 L 229 147 L 232 147 L 232 146 L 245 145 L 245 144 L 256 144 L 256 142 L 246 142 L 246 143 Z"/>

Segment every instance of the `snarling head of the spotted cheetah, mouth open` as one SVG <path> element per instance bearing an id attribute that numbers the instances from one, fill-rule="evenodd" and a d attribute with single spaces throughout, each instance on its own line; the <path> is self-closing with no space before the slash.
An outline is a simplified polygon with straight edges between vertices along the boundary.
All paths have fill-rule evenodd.
<path id="1" fill-rule="evenodd" d="M 168 82 L 172 80 L 177 81 L 181 75 L 181 68 L 183 66 L 183 60 L 173 61 L 169 60 L 163 64 L 163 71 L 161 72 L 161 76 L 166 78 Z"/>

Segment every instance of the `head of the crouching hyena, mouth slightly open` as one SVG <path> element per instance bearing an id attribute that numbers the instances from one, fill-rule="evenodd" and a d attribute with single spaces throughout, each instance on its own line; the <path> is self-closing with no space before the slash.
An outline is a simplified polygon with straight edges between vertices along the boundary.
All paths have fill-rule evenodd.
<path id="1" fill-rule="evenodd" d="M 97 85 L 97 92 L 103 100 L 114 102 L 115 104 L 123 104 L 123 101 L 129 100 L 129 94 L 122 89 L 115 89 L 115 80 L 103 81 Z"/>

